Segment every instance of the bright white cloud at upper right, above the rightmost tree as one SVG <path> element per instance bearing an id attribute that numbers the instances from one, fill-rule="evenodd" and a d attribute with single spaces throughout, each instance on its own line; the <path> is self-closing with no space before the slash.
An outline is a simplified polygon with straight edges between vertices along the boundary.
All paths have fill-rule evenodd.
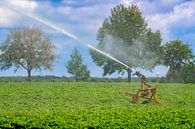
<path id="1" fill-rule="evenodd" d="M 153 30 L 160 30 L 164 42 L 174 38 L 172 27 L 186 28 L 194 26 L 195 23 L 195 2 L 186 2 L 176 5 L 169 13 L 159 13 L 146 16 L 149 27 Z"/>

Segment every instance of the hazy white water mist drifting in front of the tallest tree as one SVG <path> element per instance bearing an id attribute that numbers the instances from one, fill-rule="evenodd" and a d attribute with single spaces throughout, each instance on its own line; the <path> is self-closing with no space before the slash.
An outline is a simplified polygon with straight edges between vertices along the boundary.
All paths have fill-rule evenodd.
<path id="1" fill-rule="evenodd" d="M 146 49 L 147 41 L 146 37 L 142 37 L 142 39 L 133 39 L 130 44 L 120 37 L 107 34 L 99 47 L 128 66 L 150 69 L 158 61 L 158 56 Z"/>

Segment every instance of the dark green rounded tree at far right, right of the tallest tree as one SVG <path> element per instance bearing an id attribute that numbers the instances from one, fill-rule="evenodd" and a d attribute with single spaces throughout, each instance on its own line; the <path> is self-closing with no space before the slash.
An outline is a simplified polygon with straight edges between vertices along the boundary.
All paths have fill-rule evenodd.
<path id="1" fill-rule="evenodd" d="M 182 67 L 192 62 L 193 57 L 192 49 L 181 40 L 173 40 L 163 45 L 163 64 L 170 67 L 167 77 L 172 80 L 181 77 L 178 74 L 181 74 Z"/>

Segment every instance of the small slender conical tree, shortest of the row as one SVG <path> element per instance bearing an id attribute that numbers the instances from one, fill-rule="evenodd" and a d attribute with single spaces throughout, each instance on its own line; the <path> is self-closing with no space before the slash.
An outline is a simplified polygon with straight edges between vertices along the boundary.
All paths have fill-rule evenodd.
<path id="1" fill-rule="evenodd" d="M 87 65 L 83 64 L 83 59 L 78 49 L 75 48 L 70 55 L 70 60 L 66 64 L 68 73 L 72 74 L 75 81 L 86 80 L 90 76 L 89 70 L 87 70 Z"/>

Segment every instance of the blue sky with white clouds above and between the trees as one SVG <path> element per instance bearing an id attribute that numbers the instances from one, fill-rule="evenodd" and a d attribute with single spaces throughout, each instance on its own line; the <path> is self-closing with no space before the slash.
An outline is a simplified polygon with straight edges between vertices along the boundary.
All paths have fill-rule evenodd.
<path id="1" fill-rule="evenodd" d="M 52 35 L 59 58 L 53 71 L 33 71 L 33 75 L 71 76 L 65 62 L 74 47 L 83 55 L 91 76 L 101 77 L 102 69 L 96 66 L 89 55 L 87 44 L 97 44 L 96 33 L 110 10 L 117 4 L 136 4 L 145 17 L 148 26 L 160 30 L 162 43 L 180 39 L 188 43 L 195 53 L 195 1 L 189 0 L 2 0 L 0 1 L 0 43 L 5 41 L 9 31 L 15 27 L 36 26 Z M 37 19 L 41 19 L 37 20 Z M 60 31 L 45 25 L 49 23 L 60 31 L 77 37 L 74 40 Z M 138 69 L 146 76 L 165 76 L 168 68 L 156 67 L 153 72 Z M 26 71 L 13 69 L 0 72 L 0 76 L 25 76 Z M 117 73 L 107 77 L 118 77 Z M 123 75 L 126 77 L 126 74 Z"/>

